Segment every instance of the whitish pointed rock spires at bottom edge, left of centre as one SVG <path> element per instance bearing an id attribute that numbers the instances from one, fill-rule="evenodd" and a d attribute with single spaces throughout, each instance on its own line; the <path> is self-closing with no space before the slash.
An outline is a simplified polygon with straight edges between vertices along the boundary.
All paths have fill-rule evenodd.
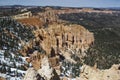
<path id="1" fill-rule="evenodd" d="M 47 56 L 42 57 L 39 69 L 29 68 L 23 80 L 60 80 L 56 71 L 50 66 Z"/>

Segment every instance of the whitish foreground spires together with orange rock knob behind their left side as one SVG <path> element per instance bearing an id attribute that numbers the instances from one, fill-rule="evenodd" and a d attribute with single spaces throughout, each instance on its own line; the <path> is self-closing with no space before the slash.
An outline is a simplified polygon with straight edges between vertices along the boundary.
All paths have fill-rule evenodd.
<path id="1" fill-rule="evenodd" d="M 47 56 L 34 52 L 30 60 L 33 68 L 27 70 L 23 80 L 60 80 Z"/>

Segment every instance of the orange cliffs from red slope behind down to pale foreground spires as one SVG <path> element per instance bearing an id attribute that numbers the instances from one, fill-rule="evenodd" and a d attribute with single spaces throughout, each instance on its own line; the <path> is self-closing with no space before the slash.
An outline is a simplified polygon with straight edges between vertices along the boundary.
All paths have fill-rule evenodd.
<path id="1" fill-rule="evenodd" d="M 81 25 L 59 20 L 51 10 L 39 14 L 39 17 L 40 20 L 35 17 L 18 20 L 34 28 L 34 38 L 27 43 L 21 41 L 23 48 L 19 50 L 23 56 L 29 57 L 26 61 L 33 66 L 25 66 L 28 70 L 24 80 L 38 80 L 41 77 L 45 80 L 59 80 L 57 75 L 62 73 L 63 61 L 73 64 L 83 62 L 87 49 L 94 43 L 94 35 Z M 75 60 L 73 55 L 79 59 Z"/>

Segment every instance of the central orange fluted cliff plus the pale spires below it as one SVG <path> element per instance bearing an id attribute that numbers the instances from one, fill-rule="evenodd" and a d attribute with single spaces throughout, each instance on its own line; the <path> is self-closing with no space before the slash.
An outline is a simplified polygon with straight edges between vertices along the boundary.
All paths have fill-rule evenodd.
<path id="1" fill-rule="evenodd" d="M 31 74 L 36 74 L 33 77 L 39 74 L 45 80 L 58 80 L 58 75 L 61 74 L 61 60 L 77 63 L 71 58 L 72 55 L 77 55 L 82 59 L 94 42 L 93 33 L 80 25 L 54 23 L 49 24 L 47 28 L 34 30 L 33 34 L 35 36 L 33 41 L 30 41 L 22 50 L 25 56 L 30 55 L 26 60 L 33 66 L 32 69 L 28 69 L 24 80 L 27 80 L 28 75 Z M 45 52 L 36 50 L 29 54 L 29 50 L 36 45 Z"/>

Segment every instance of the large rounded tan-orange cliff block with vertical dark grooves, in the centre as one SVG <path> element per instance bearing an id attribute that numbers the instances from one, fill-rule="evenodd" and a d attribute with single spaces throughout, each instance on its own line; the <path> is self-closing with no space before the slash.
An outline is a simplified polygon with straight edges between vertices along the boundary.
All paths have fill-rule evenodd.
<path id="1" fill-rule="evenodd" d="M 94 42 L 93 33 L 80 25 L 52 24 L 46 29 L 34 31 L 35 41 L 46 51 L 50 57 L 64 54 L 66 50 L 73 50 L 85 56 L 84 52 Z"/>

